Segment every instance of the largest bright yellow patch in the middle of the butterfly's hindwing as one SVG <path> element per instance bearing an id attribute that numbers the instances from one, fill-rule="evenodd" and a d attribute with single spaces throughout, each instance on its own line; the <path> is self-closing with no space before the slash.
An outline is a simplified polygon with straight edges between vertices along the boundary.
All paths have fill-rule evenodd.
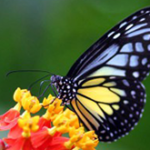
<path id="1" fill-rule="evenodd" d="M 97 102 L 115 103 L 120 101 L 120 97 L 117 94 L 105 87 L 84 88 L 79 89 L 77 92 Z"/>

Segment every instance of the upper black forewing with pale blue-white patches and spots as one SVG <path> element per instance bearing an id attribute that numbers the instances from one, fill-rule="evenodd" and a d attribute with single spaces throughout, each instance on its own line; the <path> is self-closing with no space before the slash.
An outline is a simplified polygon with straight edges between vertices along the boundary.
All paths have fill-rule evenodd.
<path id="1" fill-rule="evenodd" d="M 112 28 L 76 61 L 67 76 L 119 75 L 142 81 L 150 69 L 150 8 Z"/>

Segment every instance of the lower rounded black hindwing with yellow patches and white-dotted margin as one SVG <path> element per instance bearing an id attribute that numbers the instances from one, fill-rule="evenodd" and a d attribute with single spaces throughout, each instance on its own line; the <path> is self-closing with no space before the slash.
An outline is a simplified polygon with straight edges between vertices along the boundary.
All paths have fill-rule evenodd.
<path id="1" fill-rule="evenodd" d="M 71 106 L 87 127 L 104 142 L 128 134 L 141 117 L 145 89 L 122 77 L 92 77 L 80 82 Z"/>

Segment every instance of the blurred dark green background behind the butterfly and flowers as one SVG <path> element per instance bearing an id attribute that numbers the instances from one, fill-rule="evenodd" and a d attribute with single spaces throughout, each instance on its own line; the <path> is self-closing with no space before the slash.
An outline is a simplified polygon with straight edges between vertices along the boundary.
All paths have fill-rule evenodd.
<path id="1" fill-rule="evenodd" d="M 1 0 L 0 113 L 14 105 L 12 95 L 42 73 L 11 70 L 41 69 L 66 75 L 74 61 L 116 23 L 150 0 Z M 150 149 L 150 77 L 144 81 L 147 103 L 143 118 L 128 136 L 97 150 Z M 32 91 L 37 93 L 39 84 Z M 3 137 L 6 133 L 0 133 Z"/>

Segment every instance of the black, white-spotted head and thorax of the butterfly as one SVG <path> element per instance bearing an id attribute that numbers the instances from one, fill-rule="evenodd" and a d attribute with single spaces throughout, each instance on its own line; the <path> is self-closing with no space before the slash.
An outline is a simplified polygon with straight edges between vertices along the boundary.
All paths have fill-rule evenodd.
<path id="1" fill-rule="evenodd" d="M 58 98 L 63 100 L 64 104 L 69 104 L 69 101 L 76 97 L 77 83 L 68 77 L 53 75 L 51 83 L 56 87 Z"/>

